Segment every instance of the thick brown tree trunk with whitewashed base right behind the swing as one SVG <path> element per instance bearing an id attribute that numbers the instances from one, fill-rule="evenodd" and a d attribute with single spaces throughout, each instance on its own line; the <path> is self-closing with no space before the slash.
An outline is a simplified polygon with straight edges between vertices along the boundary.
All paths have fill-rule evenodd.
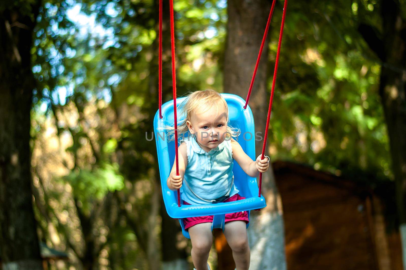
<path id="1" fill-rule="evenodd" d="M 229 19 L 224 65 L 225 92 L 246 98 L 270 6 L 271 2 L 266 0 L 228 1 Z M 276 9 L 275 12 L 282 11 Z M 279 28 L 270 28 L 270 31 L 279 31 Z M 270 97 L 266 90 L 269 36 L 268 34 L 249 101 L 255 119 L 255 132 L 261 132 L 262 137 L 265 132 Z M 262 144 L 263 140 L 255 142 L 257 156 L 262 151 Z M 267 207 L 261 211 L 251 211 L 248 228 L 251 248 L 250 270 L 286 269 L 282 205 L 272 168 L 263 174 L 262 194 L 266 199 Z"/>

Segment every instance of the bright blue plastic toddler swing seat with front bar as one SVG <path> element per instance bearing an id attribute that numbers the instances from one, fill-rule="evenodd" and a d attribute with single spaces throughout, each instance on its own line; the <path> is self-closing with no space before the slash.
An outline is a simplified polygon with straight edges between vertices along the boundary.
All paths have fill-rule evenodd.
<path id="1" fill-rule="evenodd" d="M 238 127 L 241 131 L 240 136 L 235 138 L 240 143 L 245 153 L 252 158 L 255 156 L 255 129 L 254 118 L 251 112 L 251 108 L 247 106 L 244 109 L 245 100 L 238 95 L 222 93 L 220 94 L 227 102 L 229 107 L 229 119 L 230 124 L 233 127 Z M 186 97 L 179 97 L 176 99 L 176 104 L 179 106 Z M 159 130 L 164 125 L 173 126 L 173 100 L 168 101 L 162 105 L 162 119 L 159 117 L 159 110 L 155 114 L 154 118 L 154 136 L 156 141 L 156 148 L 158 152 L 158 163 L 162 185 L 162 195 L 166 207 L 166 212 L 171 218 L 178 218 L 182 227 L 182 233 L 186 238 L 190 238 L 188 231 L 185 231 L 184 222 L 182 218 L 193 216 L 214 216 L 212 229 L 220 228 L 224 231 L 224 219 L 225 214 L 248 211 L 248 218 L 250 211 L 254 209 L 260 209 L 266 206 L 265 198 L 261 195 L 258 197 L 258 185 L 257 179 L 248 176 L 238 163 L 234 160 L 233 174 L 234 184 L 240 191 L 239 194 L 246 199 L 239 201 L 232 201 L 226 203 L 213 203 L 204 205 L 181 205 L 177 204 L 177 191 L 172 191 L 168 188 L 166 180 L 175 160 L 175 142 L 174 140 L 168 140 L 166 132 Z M 183 120 L 179 118 L 183 116 L 178 115 L 178 123 Z M 190 136 L 185 134 L 184 136 Z M 178 138 L 179 139 L 179 138 Z M 178 143 L 179 145 L 179 143 Z M 183 186 L 180 189 L 183 192 Z M 181 204 L 183 202 L 181 201 Z M 248 227 L 249 223 L 247 224 Z"/>

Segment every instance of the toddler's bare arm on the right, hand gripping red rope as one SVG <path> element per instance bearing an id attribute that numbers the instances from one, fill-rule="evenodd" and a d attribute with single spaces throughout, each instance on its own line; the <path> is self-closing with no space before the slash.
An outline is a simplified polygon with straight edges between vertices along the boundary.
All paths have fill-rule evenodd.
<path id="1" fill-rule="evenodd" d="M 238 165 L 242 170 L 251 177 L 258 177 L 259 172 L 265 173 L 268 171 L 269 163 L 268 158 L 261 160 L 261 155 L 257 157 L 256 161 L 253 161 L 245 152 L 242 150 L 241 145 L 231 138 L 231 147 L 233 151 L 233 159 L 237 161 Z"/>

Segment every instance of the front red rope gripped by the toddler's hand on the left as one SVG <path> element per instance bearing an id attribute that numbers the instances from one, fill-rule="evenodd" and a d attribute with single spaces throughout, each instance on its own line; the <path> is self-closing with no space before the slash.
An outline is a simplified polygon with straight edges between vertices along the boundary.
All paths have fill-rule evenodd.
<path id="1" fill-rule="evenodd" d="M 177 145 L 177 115 L 176 115 L 176 66 L 175 66 L 175 30 L 173 22 L 173 0 L 169 0 L 169 10 L 171 11 L 171 49 L 172 49 L 172 85 L 173 85 L 173 117 L 175 128 L 175 162 L 176 175 L 179 175 L 178 145 Z M 180 207 L 180 191 L 177 190 L 178 207 Z"/>

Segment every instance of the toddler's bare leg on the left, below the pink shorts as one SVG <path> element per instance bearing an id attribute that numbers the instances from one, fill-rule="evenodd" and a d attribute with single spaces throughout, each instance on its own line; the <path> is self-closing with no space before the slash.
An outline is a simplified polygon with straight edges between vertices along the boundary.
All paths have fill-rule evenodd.
<path id="1" fill-rule="evenodd" d="M 208 270 L 207 259 L 213 244 L 212 223 L 205 222 L 189 228 L 192 241 L 192 261 L 196 270 Z"/>

